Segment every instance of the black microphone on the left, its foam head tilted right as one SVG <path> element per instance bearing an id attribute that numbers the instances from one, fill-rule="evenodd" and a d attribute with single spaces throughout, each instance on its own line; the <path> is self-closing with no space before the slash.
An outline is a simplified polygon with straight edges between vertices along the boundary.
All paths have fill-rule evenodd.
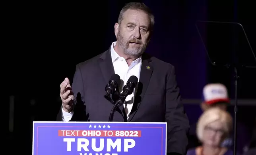
<path id="1" fill-rule="evenodd" d="M 114 93 L 114 91 L 116 90 L 116 88 L 118 87 L 118 83 L 120 82 L 120 76 L 118 76 L 117 74 L 113 74 L 111 76 L 111 78 L 109 79 L 109 83 L 106 85 L 105 87 L 105 95 L 104 97 L 106 99 L 110 98 L 110 95 L 112 93 Z M 117 88 L 118 89 L 118 88 Z"/>

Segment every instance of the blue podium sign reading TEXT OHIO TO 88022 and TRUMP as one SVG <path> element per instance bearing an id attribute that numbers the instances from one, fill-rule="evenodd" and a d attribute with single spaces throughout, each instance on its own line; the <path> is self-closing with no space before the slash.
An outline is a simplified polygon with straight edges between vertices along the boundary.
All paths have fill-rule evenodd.
<path id="1" fill-rule="evenodd" d="M 167 123 L 33 122 L 33 155 L 166 155 Z"/>

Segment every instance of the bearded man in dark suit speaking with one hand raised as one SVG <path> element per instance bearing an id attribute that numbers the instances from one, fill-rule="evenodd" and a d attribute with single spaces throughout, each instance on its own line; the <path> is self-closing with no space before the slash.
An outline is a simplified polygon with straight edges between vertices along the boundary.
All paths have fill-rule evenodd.
<path id="1" fill-rule="evenodd" d="M 134 91 L 117 109 L 113 121 L 167 122 L 167 152 L 186 154 L 189 123 L 184 113 L 174 66 L 144 53 L 154 16 L 143 3 L 122 8 L 114 25 L 116 42 L 104 53 L 76 66 L 72 88 L 68 78 L 60 84 L 62 108 L 58 121 L 109 121 L 113 104 L 104 97 L 113 74 L 120 76 L 120 93 L 131 76 Z"/>

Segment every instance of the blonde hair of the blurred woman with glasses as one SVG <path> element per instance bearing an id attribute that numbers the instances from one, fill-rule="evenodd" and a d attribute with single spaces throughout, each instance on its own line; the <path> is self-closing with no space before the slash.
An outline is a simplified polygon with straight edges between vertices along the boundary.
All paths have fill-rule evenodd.
<path id="1" fill-rule="evenodd" d="M 217 107 L 209 108 L 200 116 L 197 123 L 196 134 L 201 142 L 203 140 L 205 127 L 214 121 L 221 121 L 221 123 L 224 124 L 225 136 L 227 136 L 227 134 L 229 134 L 231 131 L 233 125 L 231 115 Z"/>

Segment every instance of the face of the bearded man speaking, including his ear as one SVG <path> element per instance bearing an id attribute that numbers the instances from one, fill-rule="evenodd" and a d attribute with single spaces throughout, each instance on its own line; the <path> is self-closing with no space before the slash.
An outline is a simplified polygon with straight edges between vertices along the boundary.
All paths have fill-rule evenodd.
<path id="1" fill-rule="evenodd" d="M 143 11 L 128 9 L 121 23 L 115 25 L 116 40 L 124 54 L 139 57 L 149 43 L 150 18 Z"/>

